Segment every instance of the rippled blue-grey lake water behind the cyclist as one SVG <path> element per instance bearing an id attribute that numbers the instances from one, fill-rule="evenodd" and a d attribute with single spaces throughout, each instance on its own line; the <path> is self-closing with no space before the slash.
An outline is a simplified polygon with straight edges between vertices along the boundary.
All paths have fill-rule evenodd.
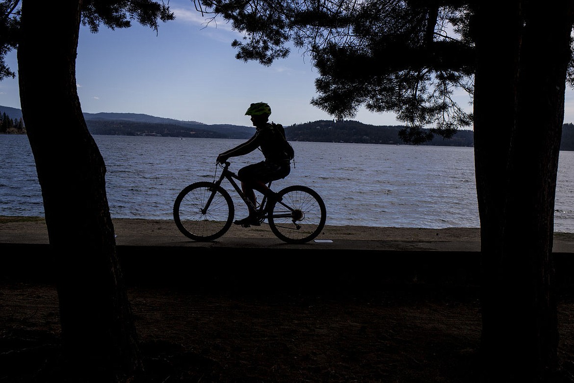
<path id="1" fill-rule="evenodd" d="M 243 140 L 94 136 L 106 161 L 112 218 L 173 219 L 186 185 L 219 176 L 217 154 Z M 295 167 L 273 189 L 307 185 L 323 197 L 327 225 L 479 227 L 474 149 L 292 142 Z M 231 158 L 232 171 L 262 159 Z M 0 135 L 0 215 L 43 216 L 26 136 Z M 226 181 L 225 181 L 226 182 Z M 224 186 L 227 187 L 227 183 Z M 236 217 L 247 214 L 236 201 Z M 574 152 L 560 152 L 554 231 L 574 233 Z"/>

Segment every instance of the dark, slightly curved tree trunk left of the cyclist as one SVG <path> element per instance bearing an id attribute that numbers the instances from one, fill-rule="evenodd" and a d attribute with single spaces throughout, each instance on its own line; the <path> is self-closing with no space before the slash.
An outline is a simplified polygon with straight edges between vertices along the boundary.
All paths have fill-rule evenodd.
<path id="1" fill-rule="evenodd" d="M 74 381 L 122 381 L 142 366 L 106 167 L 77 96 L 81 6 L 81 0 L 23 1 L 20 98 L 44 199 L 66 366 L 78 374 Z"/>

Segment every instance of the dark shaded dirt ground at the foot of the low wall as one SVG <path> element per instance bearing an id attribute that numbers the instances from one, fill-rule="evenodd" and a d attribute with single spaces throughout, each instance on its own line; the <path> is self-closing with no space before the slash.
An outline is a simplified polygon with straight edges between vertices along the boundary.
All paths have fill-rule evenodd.
<path id="1" fill-rule="evenodd" d="M 59 350 L 57 293 L 0 285 L 0 382 L 42 382 Z M 196 295 L 130 288 L 152 382 L 478 382 L 471 295 L 393 288 L 376 296 Z M 574 302 L 559 309 L 572 369 Z"/>

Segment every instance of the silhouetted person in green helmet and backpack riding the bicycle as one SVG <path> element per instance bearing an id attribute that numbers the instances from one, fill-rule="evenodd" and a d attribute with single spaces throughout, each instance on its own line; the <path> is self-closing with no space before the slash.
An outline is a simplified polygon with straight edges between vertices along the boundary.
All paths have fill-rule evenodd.
<path id="1" fill-rule="evenodd" d="M 255 126 L 255 134 L 243 144 L 220 153 L 217 163 L 223 164 L 230 157 L 244 156 L 259 148 L 265 160 L 246 165 L 239 169 L 237 175 L 241 179 L 243 192 L 257 206 L 254 189 L 264 194 L 270 200 L 277 200 L 276 193 L 267 188 L 267 183 L 285 178 L 291 172 L 290 156 L 285 150 L 285 130 L 281 125 L 269 123 L 271 107 L 265 102 L 251 104 L 245 115 L 251 116 Z M 272 206 L 272 204 L 268 204 Z M 235 220 L 235 225 L 243 227 L 259 226 L 259 217 L 253 208 L 249 207 L 249 216 Z"/>

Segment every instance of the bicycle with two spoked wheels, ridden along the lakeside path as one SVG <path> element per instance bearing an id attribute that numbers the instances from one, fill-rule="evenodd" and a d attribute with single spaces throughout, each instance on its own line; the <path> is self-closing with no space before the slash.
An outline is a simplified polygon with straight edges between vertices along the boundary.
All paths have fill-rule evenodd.
<path id="1" fill-rule="evenodd" d="M 222 182 L 227 179 L 243 202 L 257 210 L 259 222 L 267 223 L 277 238 L 287 243 L 309 242 L 321 233 L 327 219 L 327 209 L 321 196 L 307 186 L 292 185 L 277 193 L 277 202 L 269 202 L 263 195 L 261 204 L 254 206 L 243 194 L 239 177 L 229 170 L 230 163 L 218 164 L 222 168 L 219 179 L 199 181 L 185 187 L 173 204 L 173 218 L 177 228 L 194 241 L 213 241 L 230 229 L 235 205 Z M 217 173 L 217 168 L 215 169 Z M 271 182 L 267 187 L 271 187 Z"/>

